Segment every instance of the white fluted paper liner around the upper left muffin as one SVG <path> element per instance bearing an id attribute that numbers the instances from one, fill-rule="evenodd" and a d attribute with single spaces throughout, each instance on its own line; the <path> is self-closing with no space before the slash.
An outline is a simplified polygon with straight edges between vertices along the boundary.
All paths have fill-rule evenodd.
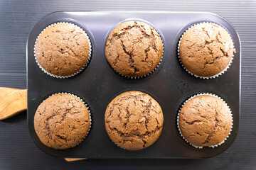
<path id="1" fill-rule="evenodd" d="M 41 33 L 43 33 L 43 31 L 46 30 L 47 28 L 49 28 L 50 26 L 54 26 L 54 25 L 59 24 L 59 23 L 68 23 L 68 22 L 57 22 L 57 23 L 53 23 L 53 24 L 47 26 L 46 28 L 44 28 L 44 29 L 41 31 Z M 36 63 L 38 64 L 38 67 L 40 67 L 41 70 L 42 70 L 43 72 L 45 72 L 46 74 L 48 74 L 49 76 L 55 77 L 55 78 L 59 78 L 59 79 L 70 78 L 70 77 L 73 77 L 73 76 L 75 76 L 76 74 L 82 72 L 82 70 L 85 69 L 85 67 L 87 66 L 87 64 L 90 62 L 90 57 L 91 57 L 91 55 L 92 55 L 92 43 L 91 43 L 90 38 L 89 38 L 89 36 L 87 35 L 87 33 L 85 33 L 85 30 L 83 30 L 82 28 L 80 28 L 80 26 L 75 25 L 74 23 L 68 23 L 68 24 L 71 24 L 72 26 L 75 26 L 75 27 L 79 28 L 80 30 L 82 30 L 82 33 L 85 34 L 85 36 L 86 36 L 86 38 L 87 38 L 87 40 L 88 40 L 88 44 L 89 44 L 89 49 L 90 49 L 90 51 L 89 51 L 89 56 L 88 56 L 87 62 L 85 63 L 85 65 L 84 65 L 78 72 L 75 72 L 74 74 L 71 74 L 71 75 L 68 75 L 68 76 L 58 76 L 58 75 L 51 74 L 51 73 L 47 72 L 46 69 L 43 69 L 43 67 L 41 67 L 41 65 L 39 64 L 38 60 L 36 59 L 36 42 L 38 41 L 38 37 L 41 35 L 41 33 L 40 33 L 40 34 L 38 35 L 38 37 L 36 38 L 36 42 L 35 42 L 34 49 L 33 49 L 34 57 L 35 57 Z"/>

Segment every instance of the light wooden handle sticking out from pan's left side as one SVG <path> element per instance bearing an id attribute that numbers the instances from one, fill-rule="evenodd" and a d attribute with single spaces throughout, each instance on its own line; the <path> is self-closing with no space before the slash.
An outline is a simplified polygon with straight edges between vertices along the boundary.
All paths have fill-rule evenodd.
<path id="1" fill-rule="evenodd" d="M 0 120 L 27 109 L 27 90 L 0 87 Z"/>

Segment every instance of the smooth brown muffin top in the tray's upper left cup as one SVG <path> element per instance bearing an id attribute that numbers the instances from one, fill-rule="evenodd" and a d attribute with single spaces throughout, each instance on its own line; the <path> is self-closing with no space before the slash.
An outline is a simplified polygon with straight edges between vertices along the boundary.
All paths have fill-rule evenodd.
<path id="1" fill-rule="evenodd" d="M 55 76 L 70 76 L 82 69 L 90 55 L 87 35 L 70 23 L 58 23 L 38 36 L 35 46 L 38 63 Z"/>

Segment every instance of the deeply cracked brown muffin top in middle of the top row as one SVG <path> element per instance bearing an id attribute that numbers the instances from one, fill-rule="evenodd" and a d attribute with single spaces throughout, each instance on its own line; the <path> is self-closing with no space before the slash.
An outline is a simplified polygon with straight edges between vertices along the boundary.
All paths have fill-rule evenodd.
<path id="1" fill-rule="evenodd" d="M 112 68 L 127 77 L 151 73 L 161 61 L 162 53 L 160 35 L 140 21 L 128 21 L 114 28 L 105 47 L 105 56 Z"/>

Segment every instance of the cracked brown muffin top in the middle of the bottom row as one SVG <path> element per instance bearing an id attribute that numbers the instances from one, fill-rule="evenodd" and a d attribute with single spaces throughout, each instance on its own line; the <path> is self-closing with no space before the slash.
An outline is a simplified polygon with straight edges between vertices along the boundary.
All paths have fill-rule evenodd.
<path id="1" fill-rule="evenodd" d="M 144 149 L 159 138 L 164 115 L 159 103 L 140 91 L 115 97 L 105 111 L 105 128 L 110 139 L 129 150 Z"/>

